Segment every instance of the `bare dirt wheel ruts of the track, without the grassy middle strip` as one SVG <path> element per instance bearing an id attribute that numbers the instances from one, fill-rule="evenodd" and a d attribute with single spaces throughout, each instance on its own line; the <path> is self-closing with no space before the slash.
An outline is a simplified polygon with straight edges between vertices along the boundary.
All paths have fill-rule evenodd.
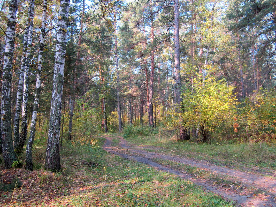
<path id="1" fill-rule="evenodd" d="M 204 187 L 206 190 L 210 190 L 216 194 L 223 196 L 224 198 L 234 200 L 238 206 L 251 206 L 251 207 L 263 207 L 272 206 L 276 207 L 276 180 L 268 177 L 258 176 L 248 172 L 242 172 L 238 170 L 229 169 L 222 166 L 216 166 L 204 161 L 198 161 L 191 158 L 183 158 L 172 155 L 163 155 L 156 152 L 148 152 L 143 150 L 144 148 L 138 146 L 130 146 L 128 142 L 119 137 L 120 146 L 112 144 L 112 137 L 105 136 L 106 143 L 104 149 L 110 153 L 122 156 L 126 159 L 136 160 L 148 164 L 158 170 L 170 172 L 176 174 L 179 177 L 188 179 L 197 185 Z M 152 159 L 158 158 L 161 160 L 169 160 L 176 163 L 182 163 L 189 166 L 194 166 L 199 169 L 208 171 L 213 174 L 221 174 L 231 176 L 230 180 L 235 179 L 243 183 L 242 187 L 226 187 L 224 185 L 214 185 L 213 181 L 208 179 L 202 179 L 188 172 L 181 172 L 172 169 L 171 166 L 163 166 Z M 252 190 L 254 188 L 254 190 Z M 251 190 L 248 190 L 251 189 Z M 258 193 L 256 193 L 258 192 Z"/>

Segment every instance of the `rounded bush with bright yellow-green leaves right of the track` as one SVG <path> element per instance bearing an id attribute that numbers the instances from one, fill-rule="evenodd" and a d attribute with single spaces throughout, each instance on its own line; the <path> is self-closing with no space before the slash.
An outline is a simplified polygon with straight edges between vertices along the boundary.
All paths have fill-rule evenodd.
<path id="1" fill-rule="evenodd" d="M 182 118 L 188 128 L 199 130 L 204 142 L 211 141 L 217 128 L 233 125 L 236 99 L 232 91 L 224 79 L 214 77 L 206 78 L 204 84 L 195 79 L 193 90 L 185 90 Z"/>

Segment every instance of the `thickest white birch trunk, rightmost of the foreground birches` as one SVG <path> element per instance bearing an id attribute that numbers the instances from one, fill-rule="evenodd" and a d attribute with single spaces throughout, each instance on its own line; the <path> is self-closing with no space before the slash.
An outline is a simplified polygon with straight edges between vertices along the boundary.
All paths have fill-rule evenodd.
<path id="1" fill-rule="evenodd" d="M 59 22 L 57 28 L 53 91 L 45 159 L 45 168 L 57 171 L 60 170 L 59 132 L 61 121 L 64 62 L 67 42 L 68 10 L 69 0 L 61 0 L 58 16 Z"/>

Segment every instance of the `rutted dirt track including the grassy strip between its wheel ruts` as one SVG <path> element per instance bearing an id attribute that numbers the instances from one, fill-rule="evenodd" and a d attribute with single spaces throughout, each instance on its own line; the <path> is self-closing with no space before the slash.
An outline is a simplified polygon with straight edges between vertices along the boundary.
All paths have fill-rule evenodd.
<path id="1" fill-rule="evenodd" d="M 276 206 L 276 179 L 272 176 L 261 176 L 257 170 L 253 170 L 253 174 L 217 166 L 205 160 L 172 155 L 168 151 L 160 153 L 160 147 L 136 146 L 120 136 L 104 137 L 107 139 L 104 149 L 108 152 L 190 180 L 207 191 L 234 200 L 238 206 Z"/>

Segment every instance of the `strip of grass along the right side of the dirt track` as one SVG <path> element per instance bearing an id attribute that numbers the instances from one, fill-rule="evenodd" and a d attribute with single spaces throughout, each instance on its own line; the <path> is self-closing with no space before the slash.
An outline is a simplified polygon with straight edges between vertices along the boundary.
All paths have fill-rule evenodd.
<path id="1" fill-rule="evenodd" d="M 160 133 L 151 137 L 128 137 L 127 140 L 138 146 L 159 147 L 158 152 L 207 160 L 221 166 L 276 177 L 275 142 L 245 144 L 216 142 L 209 145 L 192 141 L 178 142 L 175 139 L 161 136 Z"/>

